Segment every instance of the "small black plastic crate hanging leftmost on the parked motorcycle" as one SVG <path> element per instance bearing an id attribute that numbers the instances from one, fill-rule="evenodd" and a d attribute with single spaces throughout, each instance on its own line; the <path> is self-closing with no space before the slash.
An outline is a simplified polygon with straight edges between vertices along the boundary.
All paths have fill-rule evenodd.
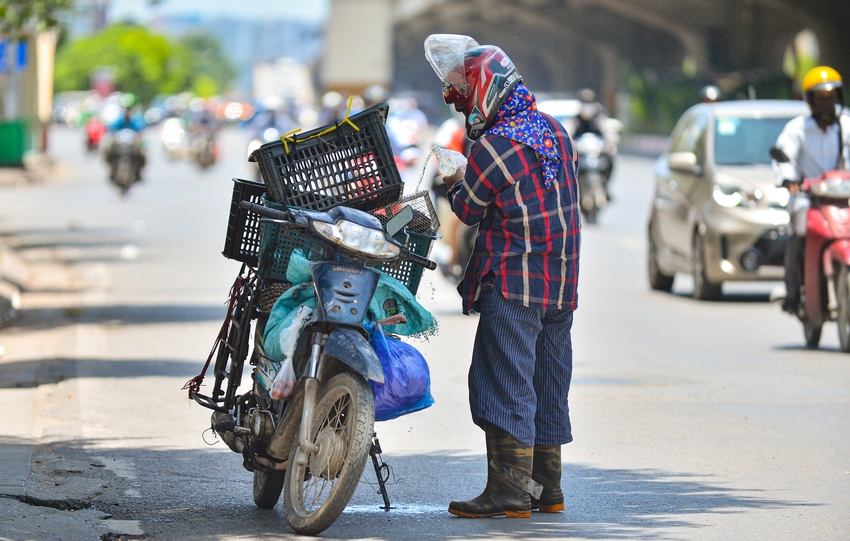
<path id="1" fill-rule="evenodd" d="M 233 179 L 233 198 L 230 202 L 230 217 L 227 221 L 227 236 L 224 250 L 228 259 L 257 266 L 260 255 L 260 216 L 239 208 L 242 201 L 261 204 L 266 185 L 239 178 Z"/>

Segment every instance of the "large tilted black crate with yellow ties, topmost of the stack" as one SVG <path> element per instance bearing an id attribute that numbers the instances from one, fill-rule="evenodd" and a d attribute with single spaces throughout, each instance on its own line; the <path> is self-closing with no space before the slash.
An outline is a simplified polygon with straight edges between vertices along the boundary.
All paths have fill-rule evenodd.
<path id="1" fill-rule="evenodd" d="M 388 112 L 386 103 L 376 105 L 285 143 L 266 143 L 249 160 L 259 164 L 274 202 L 310 210 L 386 206 L 403 188 L 384 127 Z"/>

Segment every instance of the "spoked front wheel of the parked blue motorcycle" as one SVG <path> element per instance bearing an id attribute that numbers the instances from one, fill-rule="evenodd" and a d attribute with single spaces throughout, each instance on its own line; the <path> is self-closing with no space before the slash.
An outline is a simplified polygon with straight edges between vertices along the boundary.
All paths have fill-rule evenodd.
<path id="1" fill-rule="evenodd" d="M 323 384 L 316 395 L 306 453 L 298 438 L 289 453 L 283 503 L 286 520 L 303 535 L 316 535 L 342 514 L 369 458 L 375 424 L 375 401 L 366 380 L 343 372 Z"/>

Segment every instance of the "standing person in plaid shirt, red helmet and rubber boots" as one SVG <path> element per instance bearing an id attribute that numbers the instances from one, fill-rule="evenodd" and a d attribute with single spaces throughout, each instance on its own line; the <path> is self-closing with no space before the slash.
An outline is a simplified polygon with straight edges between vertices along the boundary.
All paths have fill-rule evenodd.
<path id="1" fill-rule="evenodd" d="M 435 34 L 426 57 L 443 98 L 463 113 L 469 163 L 445 177 L 452 211 L 478 224 L 458 291 L 480 313 L 469 370 L 473 422 L 484 430 L 487 485 L 453 501 L 461 517 L 527 518 L 564 509 L 561 445 L 572 441 L 568 393 L 581 217 L 577 156 L 564 127 L 498 47 Z"/>

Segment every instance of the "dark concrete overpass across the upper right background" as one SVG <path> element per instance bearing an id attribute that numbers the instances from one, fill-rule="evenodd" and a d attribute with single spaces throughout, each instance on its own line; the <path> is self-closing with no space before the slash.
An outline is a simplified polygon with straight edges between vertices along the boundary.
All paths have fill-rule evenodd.
<path id="1" fill-rule="evenodd" d="M 776 73 L 804 29 L 817 36 L 820 62 L 850 80 L 848 0 L 334 0 L 331 20 L 342 5 L 351 17 L 352 3 L 391 12 L 381 19 L 392 25 L 390 43 L 378 40 L 391 48 L 391 80 L 374 82 L 395 90 L 436 88 L 422 46 L 432 33 L 499 45 L 537 91 L 591 87 L 608 103 L 624 61 L 662 76 L 680 75 L 684 67 L 703 83 Z M 364 34 L 373 45 L 384 35 Z M 348 55 L 349 67 L 356 61 Z"/>

